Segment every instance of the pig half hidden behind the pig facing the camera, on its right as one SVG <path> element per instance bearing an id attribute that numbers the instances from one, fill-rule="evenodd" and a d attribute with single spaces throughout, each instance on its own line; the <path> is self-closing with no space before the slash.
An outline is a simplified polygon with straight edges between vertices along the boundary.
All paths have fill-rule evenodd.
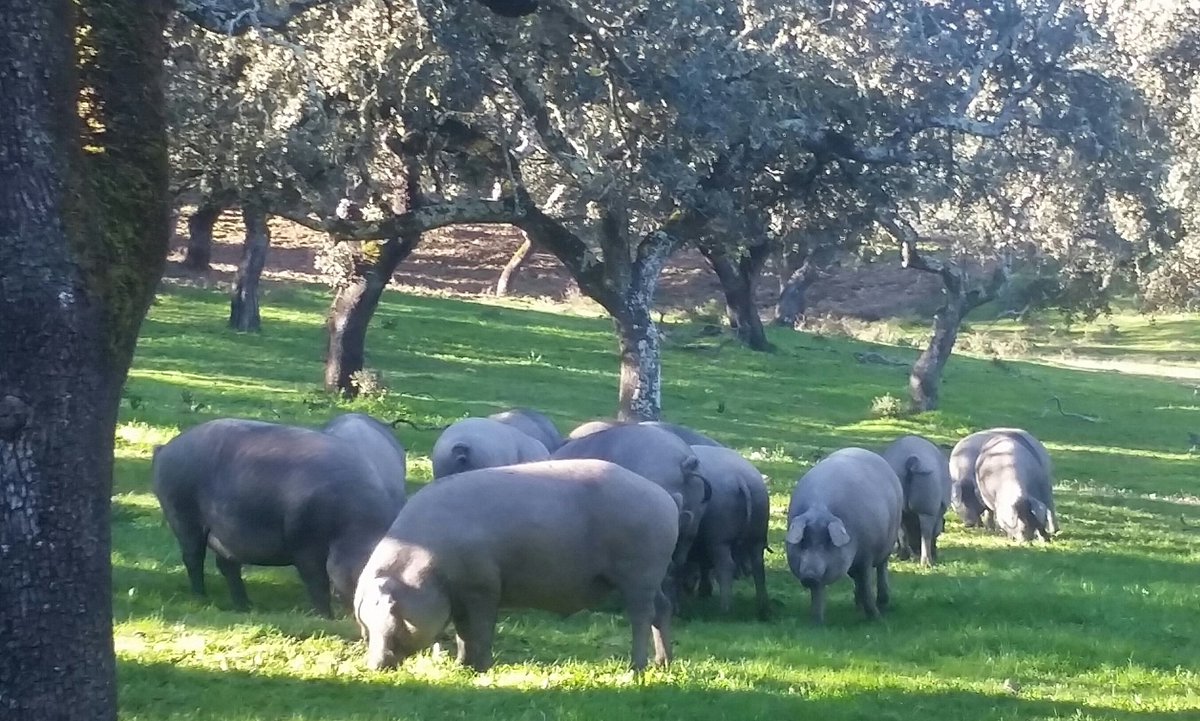
<path id="1" fill-rule="evenodd" d="M 950 504 L 950 467 L 942 450 L 919 435 L 904 435 L 880 453 L 900 476 L 900 558 L 920 554 L 924 566 L 937 560 L 937 536 Z"/>

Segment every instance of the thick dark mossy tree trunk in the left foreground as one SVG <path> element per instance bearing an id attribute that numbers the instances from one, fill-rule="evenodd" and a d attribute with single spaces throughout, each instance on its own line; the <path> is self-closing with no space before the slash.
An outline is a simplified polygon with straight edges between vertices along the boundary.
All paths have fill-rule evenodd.
<path id="1" fill-rule="evenodd" d="M 0 12 L 4 719 L 116 717 L 113 438 L 169 236 L 167 17 L 157 0 Z"/>

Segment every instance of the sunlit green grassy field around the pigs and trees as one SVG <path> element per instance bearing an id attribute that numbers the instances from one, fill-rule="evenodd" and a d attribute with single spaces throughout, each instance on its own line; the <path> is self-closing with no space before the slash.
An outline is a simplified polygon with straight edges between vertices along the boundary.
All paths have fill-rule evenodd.
<path id="1" fill-rule="evenodd" d="M 718 352 L 691 326 L 670 328 L 667 417 L 725 440 L 769 476 L 775 618 L 752 620 L 752 588 L 739 582 L 733 617 L 694 606 L 676 625 L 677 662 L 642 683 L 625 674 L 628 627 L 612 609 L 566 620 L 503 613 L 497 666 L 474 677 L 432 654 L 365 671 L 353 620 L 308 613 L 290 569 L 248 570 L 256 608 L 236 613 L 210 561 L 211 602 L 193 600 L 149 493 L 150 449 L 181 428 L 218 416 L 316 426 L 346 409 L 437 426 L 528 404 L 569 429 L 612 413 L 608 323 L 401 295 L 385 299 L 370 338 L 368 365 L 389 391 L 335 403 L 317 386 L 325 298 L 272 289 L 260 336 L 226 330 L 216 292 L 172 290 L 151 310 L 118 429 L 124 719 L 1200 719 L 1200 530 L 1184 525 L 1200 527 L 1192 385 L 955 358 L 943 410 L 876 419 L 872 399 L 902 397 L 905 369 L 853 354 L 916 352 L 823 335 L 775 332 L 779 352 L 761 355 Z M 1112 338 L 1111 355 L 1153 365 L 1175 353 L 1170 344 L 1180 356 L 1200 353 L 1187 346 L 1196 331 L 1195 318 L 1142 323 Z M 1051 396 L 1099 421 L 1046 411 Z M 830 593 L 827 626 L 811 627 L 781 553 L 796 479 L 840 446 L 877 447 L 905 432 L 950 444 L 1001 423 L 1030 428 L 1054 453 L 1062 537 L 1019 547 L 948 521 L 942 565 L 893 565 L 884 620 L 864 621 L 845 581 Z M 436 432 L 398 433 L 415 489 L 428 479 Z"/>

